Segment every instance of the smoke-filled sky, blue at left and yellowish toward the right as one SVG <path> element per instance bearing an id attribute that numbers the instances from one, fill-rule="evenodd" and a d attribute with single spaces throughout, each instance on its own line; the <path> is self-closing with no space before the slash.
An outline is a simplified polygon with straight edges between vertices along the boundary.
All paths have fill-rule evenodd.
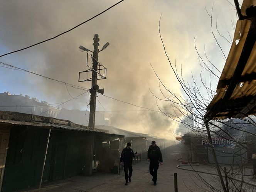
<path id="1" fill-rule="evenodd" d="M 22 49 L 42 40 L 54 37 L 97 15 L 114 5 L 117 0 L 1 0 L 0 7 L 0 55 Z M 239 1 L 241 3 L 241 1 Z M 188 99 L 170 68 L 160 40 L 158 25 L 165 48 L 178 71 L 182 65 L 185 82 L 192 81 L 191 74 L 205 81 L 209 74 L 199 64 L 195 45 L 203 56 L 222 71 L 225 59 L 211 32 L 227 56 L 232 41 L 237 16 L 232 0 L 125 0 L 86 24 L 56 39 L 36 45 L 24 51 L 0 57 L 1 62 L 27 69 L 47 77 L 91 88 L 91 82 L 78 83 L 78 72 L 88 69 L 86 52 L 78 47 L 93 50 L 94 34 L 99 35 L 99 62 L 107 68 L 107 78 L 98 80 L 104 95 L 149 109 L 168 109 L 173 106 L 162 98 L 159 79 L 167 89 L 183 99 Z M 91 65 L 91 62 L 88 62 Z M 1 65 L 0 65 L 1 66 Z M 153 67 L 153 68 L 152 68 Z M 155 72 L 153 71 L 155 70 Z M 216 73 L 220 76 L 220 73 Z M 212 77 L 216 88 L 218 79 Z M 50 104 L 64 102 L 82 93 L 80 89 L 44 79 L 27 72 L 0 68 L 0 93 L 29 95 Z M 152 93 L 155 95 L 153 95 Z M 164 91 L 170 96 L 168 91 Z M 206 93 L 205 93 L 206 94 Z M 162 113 L 144 110 L 98 94 L 96 111 L 107 111 L 112 116 L 111 126 L 173 138 L 179 124 Z M 67 109 L 86 110 L 89 94 L 62 104 Z M 56 105 L 55 105 L 56 106 Z"/>

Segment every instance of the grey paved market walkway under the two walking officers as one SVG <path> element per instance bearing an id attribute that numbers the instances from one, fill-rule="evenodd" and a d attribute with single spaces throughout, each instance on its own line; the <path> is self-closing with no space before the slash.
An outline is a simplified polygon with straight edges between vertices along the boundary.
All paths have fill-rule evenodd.
<path id="1" fill-rule="evenodd" d="M 126 186 L 124 172 L 121 175 L 113 173 L 94 172 L 93 176 L 75 176 L 69 179 L 58 180 L 42 185 L 42 192 L 174 192 L 174 177 L 173 173 L 178 175 L 178 191 L 179 192 L 202 192 L 202 191 L 217 191 L 210 190 L 209 187 L 202 182 L 206 182 L 219 188 L 218 177 L 205 173 L 190 172 L 187 170 L 178 169 L 176 166 L 180 162 L 179 153 L 169 153 L 163 157 L 163 166 L 159 166 L 157 186 L 153 185 L 152 176 L 149 174 L 149 162 L 141 161 L 133 165 L 133 175 L 131 182 Z M 192 167 L 186 167 L 192 168 Z M 202 165 L 193 167 L 195 170 L 207 172 L 216 172 L 212 165 Z M 38 188 L 33 188 L 27 192 L 38 191 Z M 242 190 L 241 190 L 242 191 Z M 246 189 L 246 192 L 255 191 L 255 189 Z"/>

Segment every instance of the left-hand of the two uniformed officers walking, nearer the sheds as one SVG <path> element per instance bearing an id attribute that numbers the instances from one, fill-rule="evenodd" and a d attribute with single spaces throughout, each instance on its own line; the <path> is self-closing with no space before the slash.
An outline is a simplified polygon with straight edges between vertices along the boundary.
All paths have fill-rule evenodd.
<path id="1" fill-rule="evenodd" d="M 125 185 L 128 185 L 128 179 L 129 179 L 129 182 L 131 182 L 131 173 L 133 172 L 133 168 L 132 168 L 133 157 L 135 157 L 135 155 L 133 153 L 133 150 L 131 149 L 131 143 L 128 142 L 127 146 L 123 149 L 121 153 L 121 158 L 120 158 L 121 165 L 124 166 L 124 171 L 125 171 Z M 128 169 L 129 169 L 129 175 L 128 175 Z"/>

